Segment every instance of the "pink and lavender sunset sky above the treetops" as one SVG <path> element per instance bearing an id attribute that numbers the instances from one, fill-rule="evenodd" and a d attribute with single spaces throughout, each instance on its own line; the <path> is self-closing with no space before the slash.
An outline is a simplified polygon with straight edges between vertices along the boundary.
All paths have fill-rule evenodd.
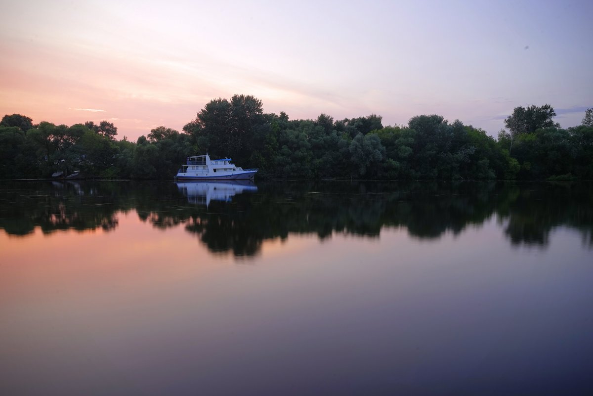
<path id="1" fill-rule="evenodd" d="M 0 0 L 0 112 L 177 130 L 213 98 L 291 119 L 418 114 L 496 136 L 515 106 L 593 107 L 589 1 Z"/>

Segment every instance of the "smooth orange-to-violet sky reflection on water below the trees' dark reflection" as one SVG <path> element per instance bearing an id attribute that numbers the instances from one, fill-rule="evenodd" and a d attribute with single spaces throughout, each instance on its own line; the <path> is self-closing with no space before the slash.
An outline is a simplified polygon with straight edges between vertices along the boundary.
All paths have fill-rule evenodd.
<path id="1" fill-rule="evenodd" d="M 251 206 L 217 209 L 241 216 L 265 200 L 242 196 Z M 286 213 L 311 205 L 294 193 L 285 202 Z M 510 244 L 496 215 L 438 238 L 401 225 L 374 235 L 367 222 L 366 237 L 289 232 L 237 257 L 183 222 L 114 215 L 115 228 L 0 232 L 2 394 L 593 389 L 582 228 L 554 227 L 543 249 Z"/>

